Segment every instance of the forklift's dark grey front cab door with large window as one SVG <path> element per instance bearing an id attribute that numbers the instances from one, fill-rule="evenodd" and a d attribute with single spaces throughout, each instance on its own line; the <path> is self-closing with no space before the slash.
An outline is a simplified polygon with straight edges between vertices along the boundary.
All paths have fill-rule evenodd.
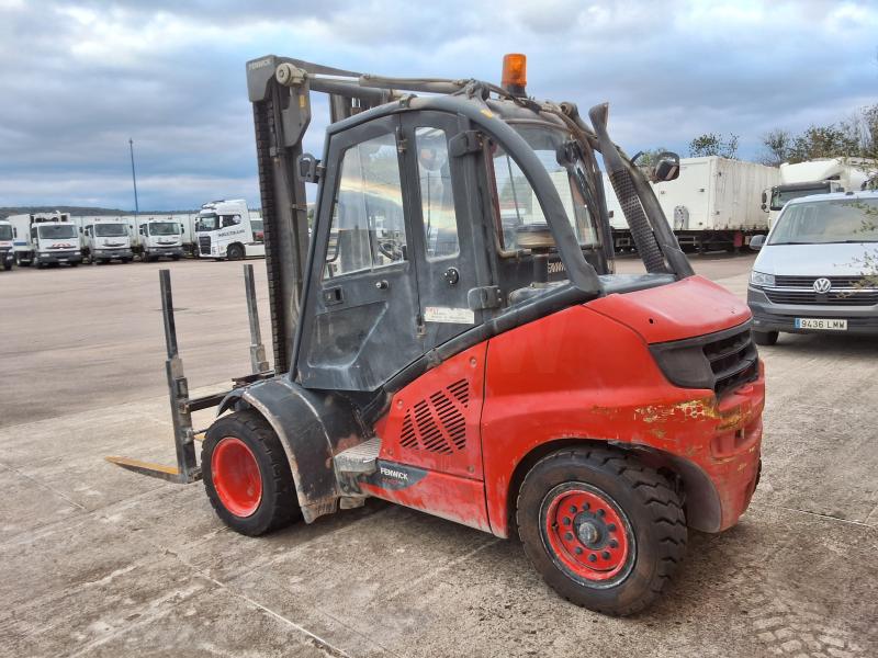
<path id="1" fill-rule="evenodd" d="M 308 388 L 371 392 L 417 360 L 412 203 L 397 116 L 329 137 L 297 372 Z"/>

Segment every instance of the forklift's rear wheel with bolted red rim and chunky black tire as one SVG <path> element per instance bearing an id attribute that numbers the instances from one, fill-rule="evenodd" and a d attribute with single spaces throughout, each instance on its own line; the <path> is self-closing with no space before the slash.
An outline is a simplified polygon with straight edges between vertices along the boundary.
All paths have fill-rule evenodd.
<path id="1" fill-rule="evenodd" d="M 543 580 L 611 615 L 646 608 L 686 552 L 683 507 L 668 481 L 607 449 L 543 457 L 521 484 L 516 520 Z"/>

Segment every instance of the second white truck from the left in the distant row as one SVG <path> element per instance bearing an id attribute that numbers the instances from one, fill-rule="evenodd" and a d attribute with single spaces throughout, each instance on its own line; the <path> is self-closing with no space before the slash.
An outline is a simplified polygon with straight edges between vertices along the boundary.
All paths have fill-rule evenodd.
<path id="1" fill-rule="evenodd" d="M 20 265 L 67 263 L 76 266 L 82 262 L 82 240 L 79 227 L 68 213 L 12 215 L 15 260 Z"/>

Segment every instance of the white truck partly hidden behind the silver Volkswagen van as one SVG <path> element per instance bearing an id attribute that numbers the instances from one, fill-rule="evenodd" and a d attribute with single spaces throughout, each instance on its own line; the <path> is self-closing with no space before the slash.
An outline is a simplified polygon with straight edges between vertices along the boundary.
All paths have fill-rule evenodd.
<path id="1" fill-rule="evenodd" d="M 767 213 L 768 228 L 788 201 L 812 194 L 856 192 L 865 190 L 878 175 L 878 162 L 863 158 L 820 158 L 780 166 L 778 184 L 766 186 L 762 209 Z"/>

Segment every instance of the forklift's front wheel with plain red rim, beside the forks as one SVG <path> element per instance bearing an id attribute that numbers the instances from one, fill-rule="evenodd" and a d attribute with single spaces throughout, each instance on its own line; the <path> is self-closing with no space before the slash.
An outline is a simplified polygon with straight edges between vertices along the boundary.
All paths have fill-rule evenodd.
<path id="1" fill-rule="evenodd" d="M 211 426 L 201 468 L 211 504 L 236 532 L 261 535 L 300 515 L 286 453 L 256 411 L 236 411 Z"/>

